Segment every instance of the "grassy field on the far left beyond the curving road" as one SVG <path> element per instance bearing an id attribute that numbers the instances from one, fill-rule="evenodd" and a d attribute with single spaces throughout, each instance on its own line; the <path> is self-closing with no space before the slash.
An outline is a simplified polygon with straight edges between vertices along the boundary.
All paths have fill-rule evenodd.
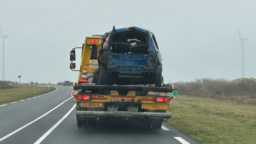
<path id="1" fill-rule="evenodd" d="M 35 87 L 35 93 L 33 93 L 33 86 L 31 85 L 14 85 L 7 87 L 7 89 L 0 89 L 0 104 L 12 102 L 15 100 L 22 100 L 31 96 L 37 96 L 40 94 L 54 91 L 54 87 Z"/>

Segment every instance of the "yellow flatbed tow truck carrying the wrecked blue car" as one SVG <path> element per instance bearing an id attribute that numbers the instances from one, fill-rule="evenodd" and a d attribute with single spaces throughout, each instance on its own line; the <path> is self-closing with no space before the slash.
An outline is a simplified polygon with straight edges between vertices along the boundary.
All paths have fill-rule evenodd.
<path id="1" fill-rule="evenodd" d="M 172 114 L 167 109 L 177 95 L 172 85 L 96 85 L 97 56 L 102 36 L 86 36 L 82 46 L 80 70 L 74 70 L 75 49 L 71 50 L 70 68 L 79 71 L 74 85 L 76 121 L 78 128 L 96 122 L 127 122 L 135 128 L 161 128 Z M 93 48 L 95 48 L 93 50 Z M 95 52 L 97 51 L 97 52 Z M 93 59 L 91 59 L 93 58 Z M 96 82 L 95 82 L 96 81 Z M 174 96 L 175 95 L 175 96 Z"/>

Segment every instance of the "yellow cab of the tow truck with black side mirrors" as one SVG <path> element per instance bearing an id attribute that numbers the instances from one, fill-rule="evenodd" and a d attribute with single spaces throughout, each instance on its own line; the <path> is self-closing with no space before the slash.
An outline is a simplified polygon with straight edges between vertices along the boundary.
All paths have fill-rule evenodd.
<path id="1" fill-rule="evenodd" d="M 93 81 L 93 72 L 97 72 L 97 68 L 99 68 L 97 57 L 99 55 L 99 50 L 101 49 L 101 35 L 93 35 L 86 36 L 84 40 L 84 44 L 82 46 L 82 57 L 81 57 L 81 65 L 80 72 L 78 76 L 78 83 L 98 83 L 97 78 L 95 77 Z M 75 55 L 75 49 L 71 50 L 71 53 Z M 75 68 L 75 57 L 71 59 L 70 68 L 73 70 Z M 96 70 L 96 71 L 95 71 Z M 78 70 L 73 70 L 78 71 Z"/>

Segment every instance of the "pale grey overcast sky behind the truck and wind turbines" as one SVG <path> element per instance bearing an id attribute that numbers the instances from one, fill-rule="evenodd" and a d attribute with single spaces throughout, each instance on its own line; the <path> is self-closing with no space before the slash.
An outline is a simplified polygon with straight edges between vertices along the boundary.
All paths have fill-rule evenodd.
<path id="1" fill-rule="evenodd" d="M 238 28 L 248 37 L 245 76 L 256 78 L 255 0 L 0 0 L 3 34 L 15 41 L 5 40 L 5 80 L 77 81 L 78 72 L 69 69 L 71 49 L 85 36 L 130 23 L 154 33 L 165 82 L 241 78 Z M 2 51 L 0 40 L 0 77 Z"/>

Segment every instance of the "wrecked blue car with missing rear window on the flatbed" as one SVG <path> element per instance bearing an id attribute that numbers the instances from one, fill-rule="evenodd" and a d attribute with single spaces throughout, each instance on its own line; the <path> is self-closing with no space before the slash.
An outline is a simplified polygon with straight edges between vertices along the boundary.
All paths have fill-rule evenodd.
<path id="1" fill-rule="evenodd" d="M 162 84 L 161 53 L 147 29 L 113 27 L 103 35 L 98 63 L 99 85 Z"/>

